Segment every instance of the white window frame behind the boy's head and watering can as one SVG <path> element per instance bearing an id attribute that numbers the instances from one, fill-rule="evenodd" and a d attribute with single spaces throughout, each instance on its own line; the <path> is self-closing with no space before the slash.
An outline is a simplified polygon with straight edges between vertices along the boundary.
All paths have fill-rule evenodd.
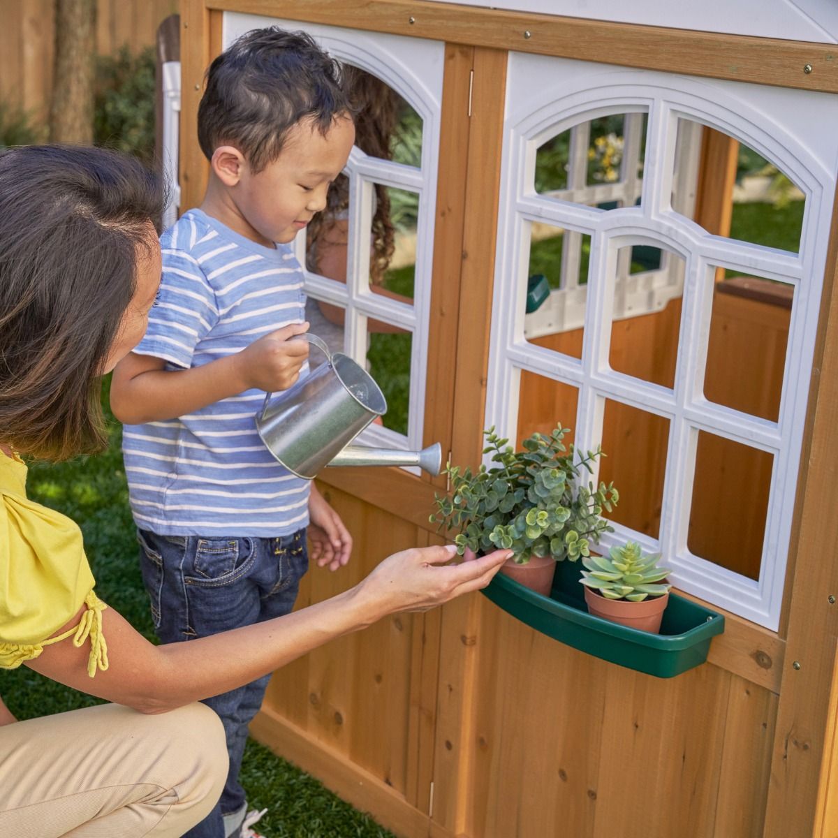
<path id="1" fill-rule="evenodd" d="M 251 29 L 278 25 L 303 29 L 329 54 L 385 81 L 422 117 L 422 160 L 419 168 L 371 158 L 355 147 L 344 172 L 349 175 L 349 248 L 347 282 L 336 282 L 305 270 L 305 236 L 298 235 L 297 257 L 305 273 L 310 297 L 344 308 L 344 351 L 366 364 L 367 320 L 375 318 L 411 332 L 411 383 L 406 436 L 380 425 L 370 425 L 359 437 L 368 445 L 412 450 L 422 447 L 427 387 L 428 321 L 431 310 L 433 231 L 436 217 L 437 161 L 442 111 L 442 75 L 445 44 L 323 26 L 319 23 L 266 18 L 251 14 L 224 14 L 225 48 Z M 374 183 L 419 195 L 416 225 L 416 268 L 413 304 L 401 303 L 370 289 L 370 225 Z M 407 469 L 417 471 L 414 468 Z"/>

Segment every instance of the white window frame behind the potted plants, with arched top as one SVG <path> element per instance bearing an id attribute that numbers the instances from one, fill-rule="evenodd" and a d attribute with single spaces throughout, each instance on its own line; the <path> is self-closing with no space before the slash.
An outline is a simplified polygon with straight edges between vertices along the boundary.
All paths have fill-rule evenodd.
<path id="1" fill-rule="evenodd" d="M 535 89 L 534 78 L 549 81 Z M 835 192 L 838 100 L 808 91 L 699 81 L 515 53 L 510 54 L 506 96 L 486 425 L 494 424 L 503 436 L 515 438 L 520 370 L 577 387 L 573 427 L 581 450 L 601 442 L 607 398 L 667 418 L 670 436 L 659 538 L 614 525 L 615 532 L 603 538 L 603 546 L 632 538 L 647 550 L 662 551 L 666 564 L 675 569 L 677 587 L 777 629 Z M 535 150 L 548 138 L 596 116 L 632 110 L 649 113 L 641 206 L 602 210 L 535 193 Z M 671 209 L 680 116 L 736 137 L 794 180 L 806 199 L 798 254 L 710 235 Z M 533 221 L 592 237 L 581 359 L 525 339 L 525 294 L 520 282 L 526 278 Z M 666 248 L 686 263 L 672 389 L 623 375 L 608 364 L 614 295 L 607 277 L 616 276 L 619 248 L 635 244 Z M 713 404 L 704 397 L 717 266 L 794 286 L 777 422 Z M 706 561 L 687 548 L 700 430 L 773 454 L 758 580 Z M 623 494 L 631 490 L 618 489 Z M 735 533 L 731 537 L 735 541 Z"/>

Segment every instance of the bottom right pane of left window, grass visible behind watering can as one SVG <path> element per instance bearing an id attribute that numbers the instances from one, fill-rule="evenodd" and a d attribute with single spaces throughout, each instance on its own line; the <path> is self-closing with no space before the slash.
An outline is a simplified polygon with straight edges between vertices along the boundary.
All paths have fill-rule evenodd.
<path id="1" fill-rule="evenodd" d="M 411 391 L 412 335 L 375 321 L 370 321 L 368 328 L 367 368 L 387 400 L 387 412 L 381 417 L 381 422 L 384 427 L 406 435 Z"/>

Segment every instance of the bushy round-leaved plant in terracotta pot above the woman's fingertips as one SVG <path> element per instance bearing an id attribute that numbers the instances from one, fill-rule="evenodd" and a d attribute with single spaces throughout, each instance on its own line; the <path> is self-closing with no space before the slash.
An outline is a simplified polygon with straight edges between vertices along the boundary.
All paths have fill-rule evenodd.
<path id="1" fill-rule="evenodd" d="M 498 549 L 514 551 L 501 569 L 507 576 L 547 595 L 555 562 L 589 556 L 592 543 L 612 528 L 600 517 L 618 501 L 613 484 L 582 482 L 582 470 L 605 456 L 597 447 L 577 458 L 562 440 L 569 428 L 548 437 L 534 433 L 514 451 L 494 427 L 484 431 L 494 465 L 476 472 L 447 464 L 450 492 L 435 495 L 437 512 L 431 521 L 439 528 L 458 530 L 454 542 L 460 555 Z"/>

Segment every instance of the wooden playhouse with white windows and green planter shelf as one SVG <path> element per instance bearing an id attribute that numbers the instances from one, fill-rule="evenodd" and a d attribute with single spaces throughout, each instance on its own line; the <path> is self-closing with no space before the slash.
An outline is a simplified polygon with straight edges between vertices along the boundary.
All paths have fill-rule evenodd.
<path id="1" fill-rule="evenodd" d="M 304 28 L 385 83 L 412 156 L 354 150 L 342 275 L 307 286 L 401 387 L 369 441 L 471 465 L 493 424 L 602 442 L 611 538 L 675 568 L 686 640 L 593 638 L 493 582 L 287 666 L 254 734 L 411 838 L 838 835 L 838 8 L 502 5 L 182 0 L 180 205 L 237 35 Z M 408 219 L 397 293 L 368 279 L 382 189 Z M 321 485 L 356 549 L 301 605 L 439 540 L 444 478 Z"/>

